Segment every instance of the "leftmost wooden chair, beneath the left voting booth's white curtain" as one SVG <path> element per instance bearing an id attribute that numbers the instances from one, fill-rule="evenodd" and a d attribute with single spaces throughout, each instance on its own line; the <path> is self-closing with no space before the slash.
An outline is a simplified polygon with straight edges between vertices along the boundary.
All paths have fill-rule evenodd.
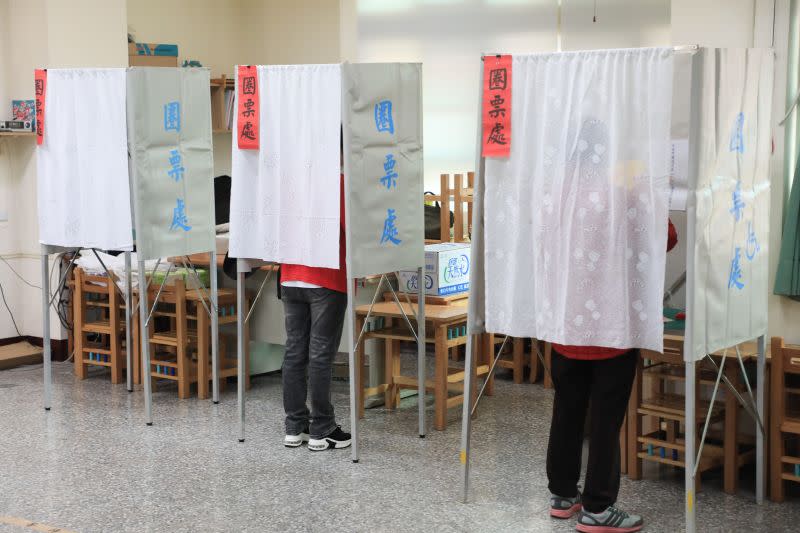
<path id="1" fill-rule="evenodd" d="M 113 276 L 113 274 L 112 274 Z M 125 303 L 116 278 L 73 271 L 75 375 L 86 379 L 89 366 L 111 370 L 111 383 L 124 381 Z"/>

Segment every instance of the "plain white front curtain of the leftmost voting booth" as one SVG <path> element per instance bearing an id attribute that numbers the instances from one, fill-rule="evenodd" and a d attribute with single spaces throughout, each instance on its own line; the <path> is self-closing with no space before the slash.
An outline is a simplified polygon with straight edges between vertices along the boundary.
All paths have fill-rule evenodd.
<path id="1" fill-rule="evenodd" d="M 46 99 L 39 242 L 131 249 L 125 69 L 49 69 Z"/>

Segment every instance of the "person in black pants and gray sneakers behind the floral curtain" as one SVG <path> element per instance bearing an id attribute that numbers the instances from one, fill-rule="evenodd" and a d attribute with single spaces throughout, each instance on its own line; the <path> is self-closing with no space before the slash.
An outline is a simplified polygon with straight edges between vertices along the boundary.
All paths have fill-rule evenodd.
<path id="1" fill-rule="evenodd" d="M 678 243 L 669 221 L 667 251 Z M 553 344 L 550 374 L 555 386 L 547 478 L 550 516 L 580 513 L 584 533 L 634 533 L 642 517 L 615 507 L 620 483 L 619 432 L 628 409 L 638 349 Z M 591 401 L 586 486 L 578 490 L 586 414 Z"/>

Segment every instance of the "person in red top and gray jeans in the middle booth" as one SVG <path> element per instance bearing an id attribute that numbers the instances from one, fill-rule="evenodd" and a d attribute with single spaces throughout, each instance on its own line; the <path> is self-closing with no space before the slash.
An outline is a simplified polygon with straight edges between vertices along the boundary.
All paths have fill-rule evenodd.
<path id="1" fill-rule="evenodd" d="M 344 147 L 340 137 L 340 150 Z M 343 157 L 343 155 L 342 155 Z M 347 309 L 344 174 L 340 177 L 339 268 L 281 265 L 280 298 L 286 315 L 283 360 L 283 444 L 311 451 L 347 448 L 350 434 L 336 424 L 331 403 L 333 359 L 342 338 Z M 306 405 L 311 389 L 311 410 Z"/>

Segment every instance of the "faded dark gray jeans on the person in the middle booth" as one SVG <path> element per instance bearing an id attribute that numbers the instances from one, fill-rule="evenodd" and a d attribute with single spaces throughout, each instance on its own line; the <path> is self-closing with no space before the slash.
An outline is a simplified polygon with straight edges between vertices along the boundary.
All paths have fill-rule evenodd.
<path id="1" fill-rule="evenodd" d="M 286 434 L 310 430 L 321 439 L 336 429 L 331 403 L 333 358 L 342 338 L 347 294 L 330 289 L 281 287 L 286 314 L 283 409 Z M 306 406 L 311 388 L 311 411 Z"/>

